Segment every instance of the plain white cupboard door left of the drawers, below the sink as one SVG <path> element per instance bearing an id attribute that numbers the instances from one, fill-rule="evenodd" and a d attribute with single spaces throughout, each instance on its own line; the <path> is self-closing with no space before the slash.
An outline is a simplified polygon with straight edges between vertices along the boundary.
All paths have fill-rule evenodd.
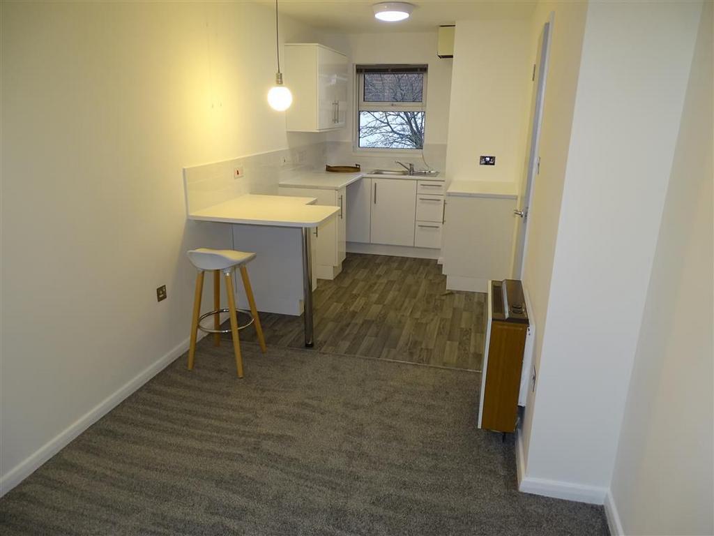
<path id="1" fill-rule="evenodd" d="M 372 244 L 414 245 L 416 181 L 372 179 Z"/>

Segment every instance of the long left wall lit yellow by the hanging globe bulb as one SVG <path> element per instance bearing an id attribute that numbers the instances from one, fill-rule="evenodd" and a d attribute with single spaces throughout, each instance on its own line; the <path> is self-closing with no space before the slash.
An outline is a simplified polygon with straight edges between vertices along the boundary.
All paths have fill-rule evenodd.
<path id="1" fill-rule="evenodd" d="M 266 104 L 270 6 L 1 10 L 5 492 L 186 346 L 185 252 L 231 242 L 228 226 L 186 222 L 181 168 L 324 136 L 288 136 Z M 281 37 L 319 39 L 285 18 Z M 161 284 L 169 298 L 157 303 Z"/>

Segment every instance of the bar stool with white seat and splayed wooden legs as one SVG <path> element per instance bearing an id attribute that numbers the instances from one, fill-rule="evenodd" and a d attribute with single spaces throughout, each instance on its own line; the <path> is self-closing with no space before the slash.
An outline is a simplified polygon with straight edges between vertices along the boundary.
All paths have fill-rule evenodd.
<path id="1" fill-rule="evenodd" d="M 258 335 L 258 343 L 261 345 L 261 351 L 266 353 L 266 342 L 263 338 L 263 328 L 261 327 L 261 319 L 258 317 L 258 309 L 256 309 L 256 300 L 253 298 L 253 289 L 251 289 L 251 281 L 248 279 L 248 270 L 246 264 L 256 257 L 255 253 L 238 252 L 233 249 L 208 249 L 201 247 L 191 249 L 188 254 L 188 259 L 193 266 L 198 269 L 196 277 L 196 294 L 193 298 L 193 319 L 191 320 L 191 345 L 188 347 L 188 370 L 193 369 L 193 357 L 196 354 L 196 337 L 198 329 L 201 331 L 213 333 L 213 344 L 219 346 L 221 344 L 221 333 L 231 332 L 233 337 L 233 352 L 236 354 L 236 371 L 238 377 L 243 377 L 243 357 L 241 357 L 241 342 L 238 339 L 238 329 L 248 327 L 253 322 L 256 324 L 256 334 Z M 246 297 L 248 304 L 251 306 L 251 322 L 238 326 L 238 310 L 236 309 L 236 296 L 233 294 L 233 272 L 236 267 L 241 269 L 241 278 L 243 279 L 243 287 L 246 289 Z M 198 316 L 201 312 L 201 294 L 203 294 L 203 275 L 207 270 L 213 272 L 213 307 L 214 310 L 206 314 Z M 228 307 L 221 309 L 221 272 L 226 280 L 226 294 L 228 294 Z M 221 320 L 219 316 L 221 312 L 227 312 L 231 317 L 231 329 L 220 329 Z M 246 312 L 247 311 L 241 311 Z M 201 320 L 206 317 L 213 316 L 214 329 L 208 329 L 201 325 Z"/>

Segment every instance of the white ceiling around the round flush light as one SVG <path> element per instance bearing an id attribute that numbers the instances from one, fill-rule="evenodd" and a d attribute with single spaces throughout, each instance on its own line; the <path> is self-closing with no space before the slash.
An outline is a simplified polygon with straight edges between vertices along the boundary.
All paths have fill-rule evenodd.
<path id="1" fill-rule="evenodd" d="M 323 31 L 379 33 L 383 31 L 434 31 L 439 24 L 463 19 L 527 19 L 537 0 L 410 0 L 415 6 L 406 21 L 388 23 L 374 18 L 377 0 L 280 0 L 281 14 Z M 261 4 L 274 6 L 273 0 Z"/>

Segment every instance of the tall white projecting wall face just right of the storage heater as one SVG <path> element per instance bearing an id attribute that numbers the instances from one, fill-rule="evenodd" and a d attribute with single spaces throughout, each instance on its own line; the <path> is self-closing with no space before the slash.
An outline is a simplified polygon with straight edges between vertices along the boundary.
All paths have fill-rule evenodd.
<path id="1" fill-rule="evenodd" d="M 522 489 L 610 484 L 700 11 L 588 4 Z"/>

